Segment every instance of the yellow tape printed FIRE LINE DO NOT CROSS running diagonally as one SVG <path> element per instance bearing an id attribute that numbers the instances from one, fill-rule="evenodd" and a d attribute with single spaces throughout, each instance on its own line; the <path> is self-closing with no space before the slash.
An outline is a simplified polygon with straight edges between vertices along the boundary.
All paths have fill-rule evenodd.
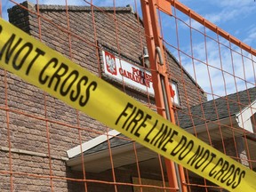
<path id="1" fill-rule="evenodd" d="M 222 188 L 256 191 L 255 172 L 2 19 L 0 67 Z"/>

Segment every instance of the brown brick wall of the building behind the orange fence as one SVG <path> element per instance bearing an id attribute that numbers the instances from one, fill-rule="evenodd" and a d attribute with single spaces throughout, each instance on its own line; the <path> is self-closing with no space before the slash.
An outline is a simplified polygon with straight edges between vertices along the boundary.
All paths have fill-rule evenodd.
<path id="1" fill-rule="evenodd" d="M 152 95 L 106 76 L 103 70 L 102 51 L 141 67 L 140 56 L 146 41 L 143 23 L 131 7 L 116 8 L 114 14 L 114 9 L 108 7 L 92 12 L 91 7 L 68 6 L 67 13 L 66 6 L 60 5 L 24 2 L 22 6 L 16 5 L 8 11 L 13 25 L 136 100 L 154 105 Z M 36 15 L 37 10 L 40 17 Z M 206 101 L 204 91 L 171 52 L 165 52 L 165 56 L 170 83 L 174 82 L 178 88 L 176 94 L 180 103 L 175 108 L 186 109 Z M 115 188 L 124 192 L 133 190 L 129 185 L 115 185 L 111 169 L 84 174 L 66 164 L 68 149 L 78 146 L 80 140 L 86 142 L 107 132 L 104 124 L 77 112 L 17 76 L 7 73 L 5 77 L 2 69 L 0 81 L 0 122 L 3 124 L 0 129 L 0 170 L 6 172 L 0 174 L 1 191 L 11 188 L 15 191 L 50 191 L 53 188 L 61 192 L 84 191 L 84 188 L 93 192 L 115 191 Z M 143 178 L 162 180 L 159 171 L 141 169 L 140 174 Z M 37 179 L 36 175 L 45 177 Z M 132 183 L 132 178 L 136 177 L 138 172 L 134 164 L 115 168 L 116 182 Z M 81 181 L 83 179 L 88 181 Z"/>

